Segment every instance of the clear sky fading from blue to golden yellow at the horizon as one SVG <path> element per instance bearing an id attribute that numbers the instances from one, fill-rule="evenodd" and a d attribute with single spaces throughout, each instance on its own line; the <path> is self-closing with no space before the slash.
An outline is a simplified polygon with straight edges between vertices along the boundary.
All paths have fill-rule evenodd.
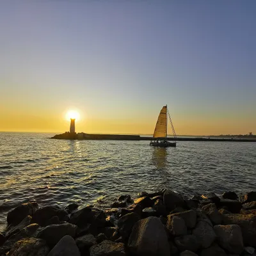
<path id="1" fill-rule="evenodd" d="M 3 0 L 0 131 L 256 134 L 256 1 Z M 168 131 L 172 131 L 169 127 Z"/>

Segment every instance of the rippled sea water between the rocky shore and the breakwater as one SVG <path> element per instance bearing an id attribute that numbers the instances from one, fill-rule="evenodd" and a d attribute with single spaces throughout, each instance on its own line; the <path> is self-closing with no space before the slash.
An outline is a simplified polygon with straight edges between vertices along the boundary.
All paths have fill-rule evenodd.
<path id="1" fill-rule="evenodd" d="M 184 195 L 256 189 L 256 143 L 50 140 L 0 133 L 0 228 L 22 202 L 107 207 L 116 196 L 170 188 Z"/>

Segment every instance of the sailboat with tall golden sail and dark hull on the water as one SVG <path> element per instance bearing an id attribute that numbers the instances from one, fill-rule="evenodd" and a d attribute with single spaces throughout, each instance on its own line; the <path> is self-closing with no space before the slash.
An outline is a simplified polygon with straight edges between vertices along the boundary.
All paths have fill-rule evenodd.
<path id="1" fill-rule="evenodd" d="M 173 136 L 176 139 L 176 133 L 175 129 L 173 127 L 172 118 L 170 116 L 170 113 L 168 111 L 167 105 L 163 106 L 163 108 L 160 111 L 160 114 L 158 116 L 157 122 L 156 122 L 156 128 L 154 131 L 153 138 L 156 138 L 154 141 L 150 141 L 150 146 L 153 147 L 176 147 L 176 140 L 175 142 L 169 142 L 167 141 L 167 114 L 170 120 L 170 124 L 172 127 Z"/>

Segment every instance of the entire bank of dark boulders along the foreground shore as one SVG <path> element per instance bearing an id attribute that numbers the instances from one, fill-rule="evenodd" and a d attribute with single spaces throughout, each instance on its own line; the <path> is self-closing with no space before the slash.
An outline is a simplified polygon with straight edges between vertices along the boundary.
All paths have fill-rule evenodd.
<path id="1" fill-rule="evenodd" d="M 187 199 L 164 189 L 109 206 L 21 204 L 8 212 L 0 255 L 256 255 L 256 191 Z"/>

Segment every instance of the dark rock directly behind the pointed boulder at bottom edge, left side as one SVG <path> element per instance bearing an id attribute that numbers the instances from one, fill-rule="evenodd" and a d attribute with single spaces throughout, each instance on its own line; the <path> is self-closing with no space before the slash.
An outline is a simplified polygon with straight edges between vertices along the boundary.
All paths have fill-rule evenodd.
<path id="1" fill-rule="evenodd" d="M 44 239 L 49 246 L 54 246 L 63 236 L 76 236 L 76 225 L 70 223 L 50 225 L 38 233 L 38 238 Z"/>

